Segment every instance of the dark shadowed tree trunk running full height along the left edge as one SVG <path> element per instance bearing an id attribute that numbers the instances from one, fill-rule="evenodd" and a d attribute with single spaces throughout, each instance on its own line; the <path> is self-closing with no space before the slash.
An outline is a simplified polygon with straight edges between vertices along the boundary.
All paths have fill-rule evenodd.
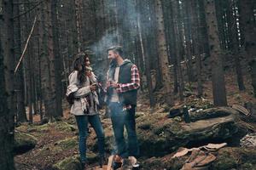
<path id="1" fill-rule="evenodd" d="M 14 22 L 13 1 L 3 0 L 0 10 L 0 167 L 13 170 L 14 155 Z"/>

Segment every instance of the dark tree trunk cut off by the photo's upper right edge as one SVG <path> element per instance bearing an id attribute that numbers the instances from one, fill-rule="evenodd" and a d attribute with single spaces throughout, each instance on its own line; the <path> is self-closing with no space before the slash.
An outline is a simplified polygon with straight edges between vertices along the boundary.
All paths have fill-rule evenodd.
<path id="1" fill-rule="evenodd" d="M 251 67 L 253 93 L 256 98 L 256 21 L 254 15 L 255 1 L 243 0 L 240 4 L 240 20 L 244 35 L 243 48 L 247 52 L 247 59 Z"/>

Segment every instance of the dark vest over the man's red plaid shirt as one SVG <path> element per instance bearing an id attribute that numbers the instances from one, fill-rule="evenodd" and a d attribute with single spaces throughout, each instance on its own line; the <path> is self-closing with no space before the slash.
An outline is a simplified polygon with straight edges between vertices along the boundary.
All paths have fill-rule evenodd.
<path id="1" fill-rule="evenodd" d="M 131 62 L 120 65 L 119 69 L 119 83 L 125 84 L 131 82 Z M 125 105 L 137 105 L 137 89 L 127 91 L 119 94 L 119 101 Z"/>

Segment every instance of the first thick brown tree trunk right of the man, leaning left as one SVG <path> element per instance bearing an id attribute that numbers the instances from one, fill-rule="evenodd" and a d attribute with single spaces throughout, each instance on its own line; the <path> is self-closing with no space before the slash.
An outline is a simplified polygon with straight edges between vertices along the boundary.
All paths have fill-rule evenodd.
<path id="1" fill-rule="evenodd" d="M 163 19 L 162 4 L 160 0 L 155 1 L 155 15 L 157 24 L 157 45 L 158 45 L 158 56 L 160 60 L 161 75 L 163 77 L 164 94 L 166 95 L 166 104 L 173 105 L 172 97 L 172 81 L 171 81 L 171 71 L 169 68 L 168 54 L 166 49 L 166 35 L 165 35 L 165 25 Z"/>

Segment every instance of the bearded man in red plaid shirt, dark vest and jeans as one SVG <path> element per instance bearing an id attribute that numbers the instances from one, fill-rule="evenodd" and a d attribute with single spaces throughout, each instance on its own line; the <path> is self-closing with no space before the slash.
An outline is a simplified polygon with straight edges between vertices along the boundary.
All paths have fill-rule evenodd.
<path id="1" fill-rule="evenodd" d="M 135 107 L 140 77 L 137 66 L 129 59 L 123 59 L 122 55 L 120 46 L 108 48 L 108 59 L 111 59 L 111 62 L 107 77 L 107 102 L 117 146 L 116 154 L 127 158 L 139 155 Z M 124 138 L 124 127 L 128 134 L 128 145 Z"/>

